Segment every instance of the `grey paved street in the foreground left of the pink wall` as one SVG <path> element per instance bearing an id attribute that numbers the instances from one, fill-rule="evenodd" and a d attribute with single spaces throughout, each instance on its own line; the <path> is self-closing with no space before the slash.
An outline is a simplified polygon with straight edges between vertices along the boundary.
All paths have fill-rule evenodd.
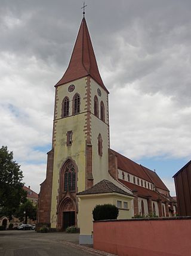
<path id="1" fill-rule="evenodd" d="M 34 230 L 0 231 L 1 256 L 110 255 L 78 245 L 79 234 L 36 233 Z"/>

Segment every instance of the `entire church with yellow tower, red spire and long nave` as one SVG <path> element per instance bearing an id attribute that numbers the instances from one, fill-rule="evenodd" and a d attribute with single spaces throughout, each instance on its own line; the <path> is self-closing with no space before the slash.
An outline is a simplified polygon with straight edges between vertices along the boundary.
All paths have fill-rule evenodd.
<path id="1" fill-rule="evenodd" d="M 109 91 L 101 79 L 83 17 L 69 66 L 55 85 L 52 149 L 41 183 L 37 230 L 81 230 L 96 204 L 119 218 L 174 216 L 175 201 L 155 171 L 110 149 Z M 91 230 L 82 231 L 90 235 Z"/>

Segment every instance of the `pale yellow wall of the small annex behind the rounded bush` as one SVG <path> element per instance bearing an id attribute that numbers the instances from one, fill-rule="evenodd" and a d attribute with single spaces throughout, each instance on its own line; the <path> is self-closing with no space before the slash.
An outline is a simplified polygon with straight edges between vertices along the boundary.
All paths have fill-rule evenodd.
<path id="1" fill-rule="evenodd" d="M 79 213 L 78 213 L 78 224 L 80 227 L 81 234 L 91 234 L 93 231 L 93 215 L 92 211 L 97 204 L 115 204 L 117 200 L 127 201 L 128 206 L 131 206 L 131 198 L 123 195 L 111 194 L 96 194 L 86 195 L 85 197 L 78 195 L 79 198 Z M 119 209 L 118 219 L 131 218 L 131 209 L 123 210 Z"/>

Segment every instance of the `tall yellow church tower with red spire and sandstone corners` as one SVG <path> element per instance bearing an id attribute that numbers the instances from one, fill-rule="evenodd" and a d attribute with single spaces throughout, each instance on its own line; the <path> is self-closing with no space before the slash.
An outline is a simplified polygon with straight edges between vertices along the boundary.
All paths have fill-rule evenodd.
<path id="1" fill-rule="evenodd" d="M 78 198 L 108 177 L 108 94 L 85 18 L 69 66 L 56 84 L 53 143 L 39 194 L 38 228 L 78 225 Z"/>

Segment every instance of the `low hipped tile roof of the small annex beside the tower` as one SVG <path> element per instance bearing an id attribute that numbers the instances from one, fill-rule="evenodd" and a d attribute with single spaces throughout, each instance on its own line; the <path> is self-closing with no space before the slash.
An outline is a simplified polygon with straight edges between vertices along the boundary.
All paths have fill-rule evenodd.
<path id="1" fill-rule="evenodd" d="M 78 195 L 89 195 L 89 194 L 101 194 L 101 193 L 119 193 L 124 195 L 131 195 L 128 192 L 125 192 L 109 180 L 101 180 L 100 182 L 96 183 L 96 185 L 92 186 L 91 188 L 79 192 Z M 133 195 L 131 195 L 133 197 Z"/>

